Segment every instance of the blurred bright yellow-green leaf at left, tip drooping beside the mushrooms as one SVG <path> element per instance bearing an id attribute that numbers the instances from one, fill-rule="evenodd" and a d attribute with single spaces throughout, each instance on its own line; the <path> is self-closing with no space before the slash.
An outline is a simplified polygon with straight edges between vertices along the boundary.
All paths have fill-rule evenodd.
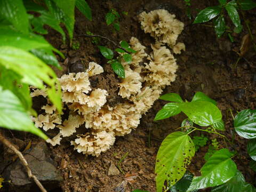
<path id="1" fill-rule="evenodd" d="M 0 46 L 0 65 L 22 76 L 21 82 L 40 89 L 49 86 L 48 97 L 61 113 L 61 89 L 54 71 L 33 54 L 11 46 Z M 56 88 L 57 90 L 56 91 Z"/>

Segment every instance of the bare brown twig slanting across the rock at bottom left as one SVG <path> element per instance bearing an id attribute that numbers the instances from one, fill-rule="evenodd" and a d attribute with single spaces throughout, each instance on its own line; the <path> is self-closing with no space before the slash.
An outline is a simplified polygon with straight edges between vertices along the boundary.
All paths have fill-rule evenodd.
<path id="1" fill-rule="evenodd" d="M 14 153 L 16 155 L 18 155 L 18 157 L 20 158 L 21 163 L 23 164 L 23 166 L 25 166 L 27 173 L 28 173 L 28 177 L 29 178 L 33 178 L 33 180 L 35 181 L 36 185 L 39 187 L 39 189 L 41 189 L 42 192 L 47 192 L 46 189 L 44 188 L 44 186 L 42 185 L 42 183 L 36 178 L 36 176 L 31 172 L 29 166 L 28 166 L 28 162 L 27 160 L 24 158 L 24 156 L 22 155 L 22 153 L 16 149 L 13 144 L 7 140 L 4 135 L 2 133 L 0 133 L 0 141 L 6 145 L 6 147 L 9 147 L 10 149 L 12 149 L 14 151 Z"/>

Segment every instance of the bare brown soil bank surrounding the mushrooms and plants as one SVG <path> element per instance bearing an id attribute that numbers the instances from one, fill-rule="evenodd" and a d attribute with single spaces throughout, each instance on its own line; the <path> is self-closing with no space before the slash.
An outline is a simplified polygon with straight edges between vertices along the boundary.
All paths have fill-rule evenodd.
<path id="1" fill-rule="evenodd" d="M 105 68 L 106 75 L 99 75 L 91 79 L 92 86 L 108 89 L 110 97 L 108 102 L 122 102 L 117 97 L 118 79 L 113 74 L 112 69 L 108 66 L 107 61 L 102 57 L 99 49 L 91 42 L 90 38 L 78 35 L 91 31 L 93 34 L 102 35 L 115 41 L 116 43 L 129 39 L 134 36 L 139 39 L 142 45 L 150 47 L 153 38 L 149 34 L 145 34 L 138 22 L 137 15 L 142 11 L 151 11 L 155 9 L 166 9 L 171 13 L 175 13 L 177 18 L 185 23 L 185 28 L 179 36 L 178 42 L 186 44 L 186 52 L 181 55 L 175 55 L 179 69 L 177 78 L 170 86 L 167 86 L 164 93 L 179 93 L 183 99 L 191 100 L 196 91 L 202 91 L 218 102 L 218 107 L 222 111 L 223 121 L 225 122 L 226 131 L 221 132 L 227 135 L 230 140 L 234 135 L 234 146 L 228 146 L 230 149 L 236 149 L 241 158 L 235 157 L 238 170 L 242 171 L 247 182 L 255 184 L 255 173 L 249 169 L 250 157 L 246 152 L 247 140 L 239 137 L 234 132 L 233 118 L 230 110 L 235 115 L 243 109 L 255 109 L 256 101 L 256 53 L 251 47 L 234 65 L 238 59 L 238 55 L 234 50 L 239 50 L 242 38 L 248 33 L 242 18 L 244 29 L 241 34 L 232 34 L 234 42 L 231 43 L 228 36 L 217 38 L 214 28 L 203 26 L 200 24 L 193 25 L 193 19 L 190 20 L 186 15 L 186 6 L 183 1 L 164 1 L 164 0 L 138 0 L 138 1 L 87 1 L 92 9 L 93 21 L 88 21 L 84 15 L 76 12 L 76 23 L 74 30 L 75 41 L 79 42 L 78 50 L 72 50 L 69 45 L 62 42 L 60 35 L 51 30 L 46 36 L 47 40 L 59 49 L 66 57 L 79 57 L 82 63 L 94 61 Z M 191 14 L 195 18 L 198 10 L 204 9 L 206 6 L 216 5 L 218 1 L 193 1 L 191 5 Z M 116 32 L 113 26 L 107 26 L 105 23 L 105 15 L 110 9 L 116 9 L 119 13 L 125 11 L 128 15 L 121 14 L 120 26 L 121 30 Z M 251 26 L 256 26 L 255 10 L 246 11 L 246 19 L 249 19 Z M 227 25 L 232 29 L 233 24 L 226 18 Z M 209 24 L 209 23 L 207 23 Z M 211 23 L 210 23 L 211 24 Z M 252 34 L 255 36 L 256 28 L 252 27 Z M 110 42 L 101 39 L 101 45 L 108 46 L 111 49 L 116 47 Z M 59 61 L 63 68 L 57 71 L 58 76 L 67 73 L 68 66 L 65 60 Z M 85 66 L 86 67 L 86 66 Z M 93 85 L 94 84 L 94 85 Z M 154 122 L 155 114 L 165 101 L 157 100 L 154 106 L 146 115 L 141 118 L 138 128 L 125 137 L 117 137 L 116 142 L 110 150 L 102 153 L 99 157 L 86 157 L 74 151 L 68 141 L 60 146 L 52 147 L 52 158 L 57 162 L 58 169 L 61 171 L 64 181 L 61 186 L 54 191 L 66 192 L 89 192 L 89 191 L 126 191 L 131 192 L 134 189 L 148 190 L 155 192 L 155 174 L 154 166 L 156 154 L 162 140 L 167 134 L 175 131 L 185 115 L 177 115 L 162 121 Z M 36 108 L 36 107 L 35 107 Z M 193 133 L 199 135 L 201 133 Z M 33 143 L 39 142 L 34 135 L 28 133 L 18 133 L 6 131 L 7 137 L 16 137 Z M 217 138 L 220 148 L 226 147 L 223 140 L 215 135 L 205 134 L 209 139 Z M 210 141 L 208 143 L 210 145 Z M 199 170 L 205 163 L 204 154 L 207 147 L 198 150 L 193 162 L 189 166 L 189 170 L 199 175 Z M 123 158 L 123 161 L 118 162 Z M 122 169 L 122 172 L 115 176 L 108 176 L 110 164 L 115 164 Z M 127 173 L 132 174 L 133 181 L 127 183 L 129 177 Z M 126 175 L 125 175 L 126 174 Z M 125 179 L 126 178 L 126 179 Z M 125 185 L 125 183 L 127 183 Z M 117 190 L 118 186 L 123 185 L 125 190 Z M 4 187 L 3 187 L 4 189 Z M 205 190 L 204 190 L 205 191 Z"/>

